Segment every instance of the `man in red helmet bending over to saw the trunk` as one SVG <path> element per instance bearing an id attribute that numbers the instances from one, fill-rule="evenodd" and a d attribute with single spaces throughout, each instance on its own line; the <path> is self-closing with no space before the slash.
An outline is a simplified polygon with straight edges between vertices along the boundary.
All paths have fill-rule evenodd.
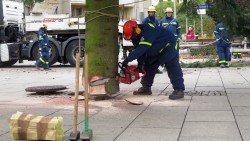
<path id="1" fill-rule="evenodd" d="M 183 98 L 185 86 L 174 35 L 163 27 L 154 26 L 150 23 L 137 24 L 131 20 L 124 24 L 123 32 L 124 39 L 132 40 L 136 47 L 122 62 L 123 67 L 126 67 L 129 62 L 135 59 L 139 63 L 143 60 L 144 69 L 147 72 L 141 80 L 142 87 L 134 91 L 134 95 L 152 94 L 151 86 L 155 73 L 159 65 L 164 64 L 174 89 L 169 98 Z M 140 65 L 138 67 L 141 69 Z"/>

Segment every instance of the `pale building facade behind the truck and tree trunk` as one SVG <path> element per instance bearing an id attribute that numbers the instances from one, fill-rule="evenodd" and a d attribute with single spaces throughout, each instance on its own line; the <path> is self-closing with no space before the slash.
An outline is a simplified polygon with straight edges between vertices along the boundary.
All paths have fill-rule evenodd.
<path id="1" fill-rule="evenodd" d="M 123 19 L 141 20 L 147 16 L 147 9 L 152 0 L 138 2 L 139 0 L 119 0 L 119 15 Z M 71 17 L 84 16 L 86 0 L 45 0 L 36 3 L 32 14 L 69 14 Z"/>

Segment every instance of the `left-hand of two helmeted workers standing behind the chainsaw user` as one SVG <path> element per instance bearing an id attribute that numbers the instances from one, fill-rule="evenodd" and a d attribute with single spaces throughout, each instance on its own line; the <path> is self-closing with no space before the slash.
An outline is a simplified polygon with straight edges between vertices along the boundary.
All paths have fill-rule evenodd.
<path id="1" fill-rule="evenodd" d="M 158 20 L 155 18 L 155 7 L 154 6 L 149 6 L 148 7 L 148 17 L 144 18 L 142 20 L 142 23 L 143 24 L 147 24 L 147 23 L 151 23 L 153 24 L 154 26 L 159 26 L 159 22 Z M 162 71 L 160 71 L 159 69 L 157 69 L 157 72 L 158 74 L 161 74 Z"/>

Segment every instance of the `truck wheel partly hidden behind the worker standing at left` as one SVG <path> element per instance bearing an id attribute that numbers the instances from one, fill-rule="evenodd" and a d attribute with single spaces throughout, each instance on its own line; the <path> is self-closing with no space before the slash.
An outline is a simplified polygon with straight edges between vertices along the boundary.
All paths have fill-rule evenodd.
<path id="1" fill-rule="evenodd" d="M 53 42 L 49 42 L 49 48 L 50 48 L 50 52 L 49 52 L 49 65 L 53 65 L 57 62 L 58 60 L 58 50 L 56 48 L 56 46 L 53 44 Z M 40 53 L 38 50 L 38 43 L 36 43 L 33 47 L 33 58 L 34 60 L 38 60 L 40 57 Z"/>

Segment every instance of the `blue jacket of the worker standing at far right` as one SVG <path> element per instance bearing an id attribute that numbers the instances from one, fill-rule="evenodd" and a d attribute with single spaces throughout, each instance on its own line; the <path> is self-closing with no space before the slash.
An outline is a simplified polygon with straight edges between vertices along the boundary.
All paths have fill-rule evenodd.
<path id="1" fill-rule="evenodd" d="M 230 37 L 228 29 L 224 27 L 222 23 L 215 26 L 214 35 L 218 39 L 216 41 L 216 46 L 229 46 Z"/>

